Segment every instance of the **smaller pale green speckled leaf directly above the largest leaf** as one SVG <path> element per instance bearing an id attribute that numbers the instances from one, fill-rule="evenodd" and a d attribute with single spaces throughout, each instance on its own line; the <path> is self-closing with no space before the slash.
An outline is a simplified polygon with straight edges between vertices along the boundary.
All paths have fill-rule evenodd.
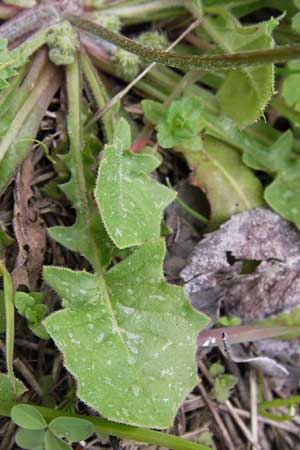
<path id="1" fill-rule="evenodd" d="M 112 145 L 105 147 L 95 190 L 106 230 L 119 248 L 157 239 L 163 210 L 175 198 L 149 176 L 160 164 L 158 156 L 131 153 L 129 145 L 130 128 L 121 119 Z"/>

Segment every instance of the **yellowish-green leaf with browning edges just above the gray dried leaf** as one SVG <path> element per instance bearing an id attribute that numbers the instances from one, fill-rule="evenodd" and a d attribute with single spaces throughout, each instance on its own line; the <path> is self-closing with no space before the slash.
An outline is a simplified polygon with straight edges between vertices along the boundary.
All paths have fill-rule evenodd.
<path id="1" fill-rule="evenodd" d="M 192 182 L 206 193 L 210 225 L 216 227 L 233 214 L 264 204 L 263 189 L 231 146 L 206 136 L 203 149 L 183 151 L 193 170 Z"/>

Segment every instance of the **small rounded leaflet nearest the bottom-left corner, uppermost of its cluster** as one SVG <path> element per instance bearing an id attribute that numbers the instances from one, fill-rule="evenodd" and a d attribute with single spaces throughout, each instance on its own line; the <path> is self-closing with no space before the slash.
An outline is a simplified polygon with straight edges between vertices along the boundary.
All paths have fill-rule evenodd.
<path id="1" fill-rule="evenodd" d="M 11 410 L 12 420 L 26 430 L 43 430 L 47 423 L 41 413 L 30 405 L 17 405 Z"/>

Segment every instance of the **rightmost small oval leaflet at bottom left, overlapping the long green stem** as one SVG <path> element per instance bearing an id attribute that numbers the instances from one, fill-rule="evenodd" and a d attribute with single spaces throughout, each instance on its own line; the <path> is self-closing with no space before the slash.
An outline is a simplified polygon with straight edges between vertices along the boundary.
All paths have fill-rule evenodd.
<path id="1" fill-rule="evenodd" d="M 57 437 L 63 437 L 70 442 L 79 442 L 87 439 L 94 433 L 91 422 L 74 417 L 57 417 L 49 424 L 49 430 Z"/>

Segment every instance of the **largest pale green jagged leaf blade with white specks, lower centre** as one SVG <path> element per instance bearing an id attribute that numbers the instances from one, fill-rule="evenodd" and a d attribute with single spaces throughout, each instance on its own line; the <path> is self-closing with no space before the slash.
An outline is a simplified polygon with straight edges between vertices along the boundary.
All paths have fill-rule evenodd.
<path id="1" fill-rule="evenodd" d="M 78 382 L 81 400 L 105 417 L 166 428 L 197 383 L 195 344 L 206 316 L 162 277 L 161 240 L 104 276 L 47 267 L 63 311 L 45 326 Z M 151 261 L 151 264 L 149 263 Z"/>

